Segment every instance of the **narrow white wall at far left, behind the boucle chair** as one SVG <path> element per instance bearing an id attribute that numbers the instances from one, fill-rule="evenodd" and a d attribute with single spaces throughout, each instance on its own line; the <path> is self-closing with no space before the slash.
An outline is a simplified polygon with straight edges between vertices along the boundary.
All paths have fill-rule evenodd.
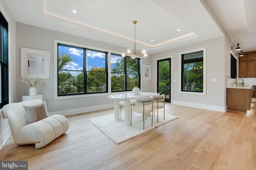
<path id="1" fill-rule="evenodd" d="M 8 22 L 9 35 L 9 102 L 16 102 L 16 21 L 4 0 L 0 0 L 0 11 Z M 1 112 L 0 112 L 1 113 Z M 11 134 L 7 119 L 0 114 L 0 149 Z"/>

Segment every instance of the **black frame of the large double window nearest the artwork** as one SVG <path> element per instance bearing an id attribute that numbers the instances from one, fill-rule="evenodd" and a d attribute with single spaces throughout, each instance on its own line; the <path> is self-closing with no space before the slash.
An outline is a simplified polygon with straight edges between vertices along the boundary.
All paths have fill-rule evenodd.
<path id="1" fill-rule="evenodd" d="M 74 45 L 68 45 L 68 44 L 64 44 L 64 43 L 57 43 L 57 55 L 59 54 L 59 45 L 64 46 L 64 47 L 70 47 L 70 48 L 76 48 L 76 49 L 82 49 L 83 50 L 83 70 L 67 70 L 67 69 L 59 69 L 58 66 L 58 62 L 57 62 L 57 96 L 76 96 L 76 95 L 85 95 L 85 94 L 100 94 L 100 93 L 108 93 L 108 52 L 107 51 L 100 51 L 100 50 L 95 50 L 95 49 L 89 49 L 89 48 L 85 48 L 85 47 L 78 47 L 78 46 L 74 46 Z M 95 51 L 95 52 L 100 52 L 100 53 L 105 53 L 105 74 L 106 74 L 106 91 L 101 91 L 101 92 L 88 92 L 87 91 L 87 68 L 86 68 L 86 51 Z M 57 60 L 58 60 L 58 56 L 57 56 Z M 59 70 L 60 71 L 79 71 L 79 72 L 83 72 L 83 76 L 84 76 L 84 92 L 83 93 L 72 93 L 72 94 L 59 94 Z"/>

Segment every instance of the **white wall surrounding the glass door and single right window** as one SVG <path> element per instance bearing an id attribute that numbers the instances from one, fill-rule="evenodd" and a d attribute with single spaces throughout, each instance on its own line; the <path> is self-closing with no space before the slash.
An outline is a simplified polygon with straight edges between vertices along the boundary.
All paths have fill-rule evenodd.
<path id="1" fill-rule="evenodd" d="M 193 49 L 199 49 L 206 47 L 206 95 L 195 94 L 180 94 L 179 93 L 179 53 L 184 51 L 190 51 Z M 152 55 L 152 64 L 158 58 L 173 56 L 173 104 L 180 104 L 192 107 L 201 107 L 205 109 L 212 109 L 218 111 L 225 111 L 225 91 L 226 91 L 226 74 L 225 74 L 225 52 L 224 52 L 224 36 L 202 41 L 179 47 L 176 49 L 170 49 L 161 53 Z M 230 58 L 228 56 L 228 58 Z M 156 69 L 152 69 L 156 72 Z M 217 82 L 211 82 L 211 78 L 216 78 Z M 153 82 L 156 82 L 156 77 L 152 78 Z M 152 90 L 156 89 L 156 83 L 152 83 Z"/>

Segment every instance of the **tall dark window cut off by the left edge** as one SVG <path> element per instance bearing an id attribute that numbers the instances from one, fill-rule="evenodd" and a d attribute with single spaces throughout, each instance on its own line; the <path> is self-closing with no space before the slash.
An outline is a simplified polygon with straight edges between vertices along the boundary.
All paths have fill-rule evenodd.
<path id="1" fill-rule="evenodd" d="M 8 103 L 8 22 L 0 12 L 0 108 Z"/>

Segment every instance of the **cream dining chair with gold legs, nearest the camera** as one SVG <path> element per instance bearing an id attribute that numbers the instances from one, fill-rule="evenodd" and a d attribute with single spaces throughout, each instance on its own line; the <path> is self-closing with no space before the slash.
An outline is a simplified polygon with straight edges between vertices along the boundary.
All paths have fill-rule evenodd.
<path id="1" fill-rule="evenodd" d="M 145 129 L 145 121 L 144 117 L 147 116 L 147 113 L 152 112 L 152 121 L 151 126 L 153 125 L 153 97 L 149 98 L 136 98 L 135 106 L 131 108 L 131 125 L 132 125 L 132 111 L 136 113 L 142 113 L 142 121 L 143 121 L 143 130 Z"/>

